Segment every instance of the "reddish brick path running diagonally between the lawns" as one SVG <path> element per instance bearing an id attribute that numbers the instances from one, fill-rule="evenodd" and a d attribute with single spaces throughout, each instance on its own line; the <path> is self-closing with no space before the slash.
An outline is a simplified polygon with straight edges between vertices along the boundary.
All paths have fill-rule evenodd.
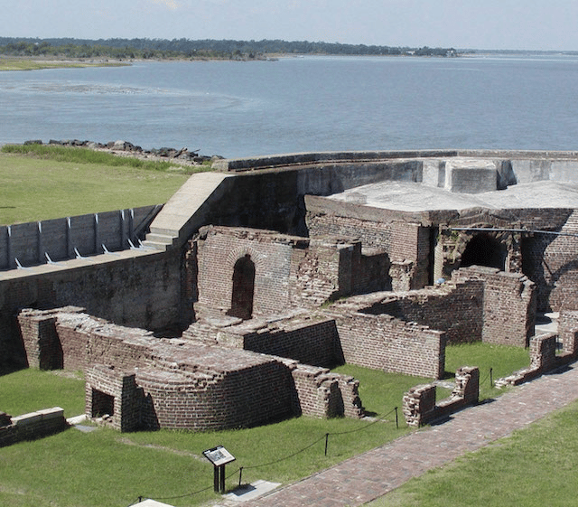
<path id="1" fill-rule="evenodd" d="M 355 506 L 404 484 L 578 399 L 578 363 L 514 388 L 495 401 L 287 485 L 243 507 Z M 223 503 L 219 503 L 223 505 Z"/>

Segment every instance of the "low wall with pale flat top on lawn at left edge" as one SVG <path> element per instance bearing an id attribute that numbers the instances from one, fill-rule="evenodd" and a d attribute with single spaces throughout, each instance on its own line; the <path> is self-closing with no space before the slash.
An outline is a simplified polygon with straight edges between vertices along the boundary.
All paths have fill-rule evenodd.
<path id="1" fill-rule="evenodd" d="M 67 427 L 64 409 L 60 407 L 46 408 L 15 418 L 2 412 L 0 413 L 0 447 L 10 446 L 22 440 L 45 437 Z"/>

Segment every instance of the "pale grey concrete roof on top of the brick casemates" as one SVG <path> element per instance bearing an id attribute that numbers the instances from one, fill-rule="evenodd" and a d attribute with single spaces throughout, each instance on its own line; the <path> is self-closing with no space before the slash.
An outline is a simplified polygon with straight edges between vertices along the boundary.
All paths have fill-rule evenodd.
<path id="1" fill-rule="evenodd" d="M 578 183 L 542 181 L 494 192 L 456 193 L 423 183 L 388 181 L 351 188 L 329 198 L 396 211 L 578 208 Z"/>

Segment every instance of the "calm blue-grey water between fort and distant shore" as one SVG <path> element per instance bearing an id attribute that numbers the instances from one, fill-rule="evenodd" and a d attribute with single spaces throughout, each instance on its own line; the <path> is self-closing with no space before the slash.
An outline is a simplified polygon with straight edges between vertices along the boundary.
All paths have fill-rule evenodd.
<path id="1" fill-rule="evenodd" d="M 0 144 L 124 139 L 227 157 L 578 149 L 577 56 L 136 63 L 0 73 Z"/>

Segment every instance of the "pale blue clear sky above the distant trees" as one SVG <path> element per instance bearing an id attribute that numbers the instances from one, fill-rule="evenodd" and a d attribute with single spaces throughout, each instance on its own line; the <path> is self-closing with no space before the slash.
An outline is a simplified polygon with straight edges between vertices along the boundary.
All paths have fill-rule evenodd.
<path id="1" fill-rule="evenodd" d="M 0 0 L 0 36 L 578 51 L 574 0 Z"/>

